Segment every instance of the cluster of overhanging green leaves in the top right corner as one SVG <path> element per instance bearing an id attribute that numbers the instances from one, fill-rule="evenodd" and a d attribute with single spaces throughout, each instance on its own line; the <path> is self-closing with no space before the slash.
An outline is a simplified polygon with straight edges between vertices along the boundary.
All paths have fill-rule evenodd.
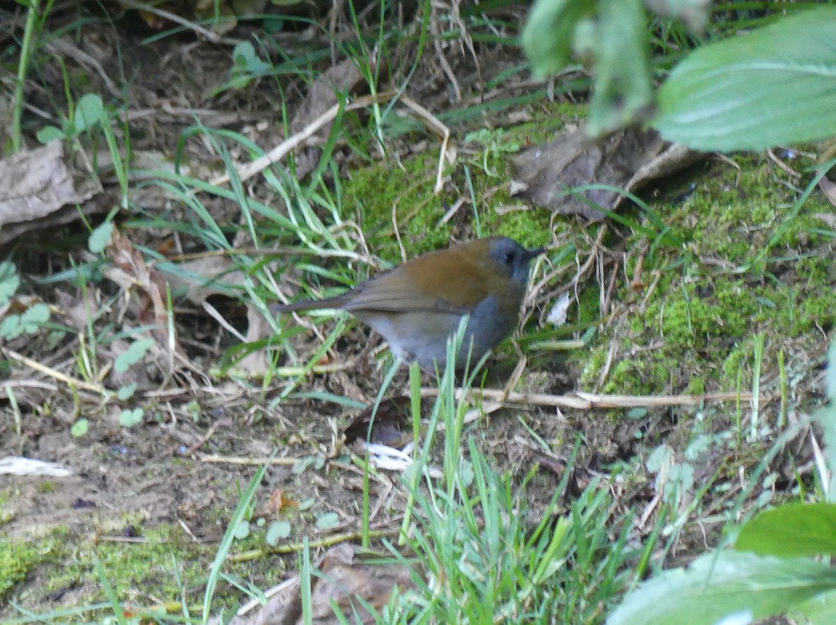
<path id="1" fill-rule="evenodd" d="M 645 4 L 697 32 L 706 21 L 707 3 Z M 798 11 L 707 43 L 671 72 L 658 98 L 650 86 L 646 22 L 640 0 L 534 4 L 523 31 L 534 72 L 555 73 L 572 54 L 594 65 L 589 135 L 646 120 L 654 105 L 650 125 L 695 150 L 765 150 L 836 135 L 836 8 Z"/>

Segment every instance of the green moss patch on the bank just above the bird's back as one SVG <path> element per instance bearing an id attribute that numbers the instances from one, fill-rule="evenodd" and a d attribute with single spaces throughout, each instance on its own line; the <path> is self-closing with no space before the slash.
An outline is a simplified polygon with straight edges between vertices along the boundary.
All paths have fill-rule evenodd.
<path id="1" fill-rule="evenodd" d="M 346 216 L 356 219 L 376 255 L 387 262 L 401 260 L 392 224 L 393 210 L 400 238 L 410 257 L 446 246 L 454 229 L 465 236 L 510 236 L 526 246 L 542 246 L 550 238 L 550 211 L 530 209 L 508 196 L 507 156 L 531 145 L 553 139 L 565 119 L 578 119 L 579 107 L 565 103 L 543 106 L 538 119 L 509 129 L 476 127 L 461 137 L 455 165 L 446 165 L 455 191 L 433 196 L 438 148 L 387 158 L 351 172 L 344 180 Z M 461 131 L 462 135 L 464 130 Z M 456 215 L 441 218 L 456 201 L 464 199 Z M 472 206 L 475 199 L 476 206 Z M 509 207 L 522 210 L 507 210 Z M 497 211 L 497 208 L 500 209 Z"/>

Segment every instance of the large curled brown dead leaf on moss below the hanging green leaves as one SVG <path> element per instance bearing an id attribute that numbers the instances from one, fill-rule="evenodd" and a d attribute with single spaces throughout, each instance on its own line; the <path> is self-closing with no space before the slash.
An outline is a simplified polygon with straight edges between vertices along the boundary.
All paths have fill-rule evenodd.
<path id="1" fill-rule="evenodd" d="M 575 127 L 512 156 L 510 165 L 513 187 L 520 195 L 561 215 L 580 214 L 597 221 L 604 218 L 603 211 L 613 211 L 624 201 L 623 194 L 573 189 L 607 185 L 632 192 L 701 157 L 701 152 L 665 143 L 653 130 L 628 128 L 593 143 Z"/>

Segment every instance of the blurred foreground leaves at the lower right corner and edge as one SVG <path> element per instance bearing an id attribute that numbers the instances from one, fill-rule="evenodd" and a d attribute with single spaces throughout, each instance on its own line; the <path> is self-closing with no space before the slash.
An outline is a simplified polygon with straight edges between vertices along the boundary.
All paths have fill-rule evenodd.
<path id="1" fill-rule="evenodd" d="M 828 367 L 829 404 L 819 415 L 831 463 L 836 440 L 833 369 L 836 343 Z M 828 466 L 831 472 L 834 468 Z M 737 532 L 737 551 L 706 554 L 687 569 L 672 569 L 640 584 L 609 616 L 607 625 L 747 623 L 786 613 L 800 614 L 812 625 L 827 625 L 836 613 L 836 572 L 829 564 L 798 556 L 833 556 L 834 528 L 836 505 L 830 503 L 793 503 L 763 511 Z"/>

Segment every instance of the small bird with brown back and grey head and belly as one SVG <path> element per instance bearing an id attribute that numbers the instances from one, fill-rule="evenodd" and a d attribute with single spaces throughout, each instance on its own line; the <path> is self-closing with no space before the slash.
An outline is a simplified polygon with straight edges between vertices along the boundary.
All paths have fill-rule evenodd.
<path id="1" fill-rule="evenodd" d="M 528 266 L 545 248 L 528 250 L 488 236 L 427 252 L 320 300 L 274 304 L 271 313 L 344 310 L 380 333 L 396 358 L 427 372 L 443 368 L 447 339 L 468 317 L 456 369 L 477 363 L 517 327 Z"/>

